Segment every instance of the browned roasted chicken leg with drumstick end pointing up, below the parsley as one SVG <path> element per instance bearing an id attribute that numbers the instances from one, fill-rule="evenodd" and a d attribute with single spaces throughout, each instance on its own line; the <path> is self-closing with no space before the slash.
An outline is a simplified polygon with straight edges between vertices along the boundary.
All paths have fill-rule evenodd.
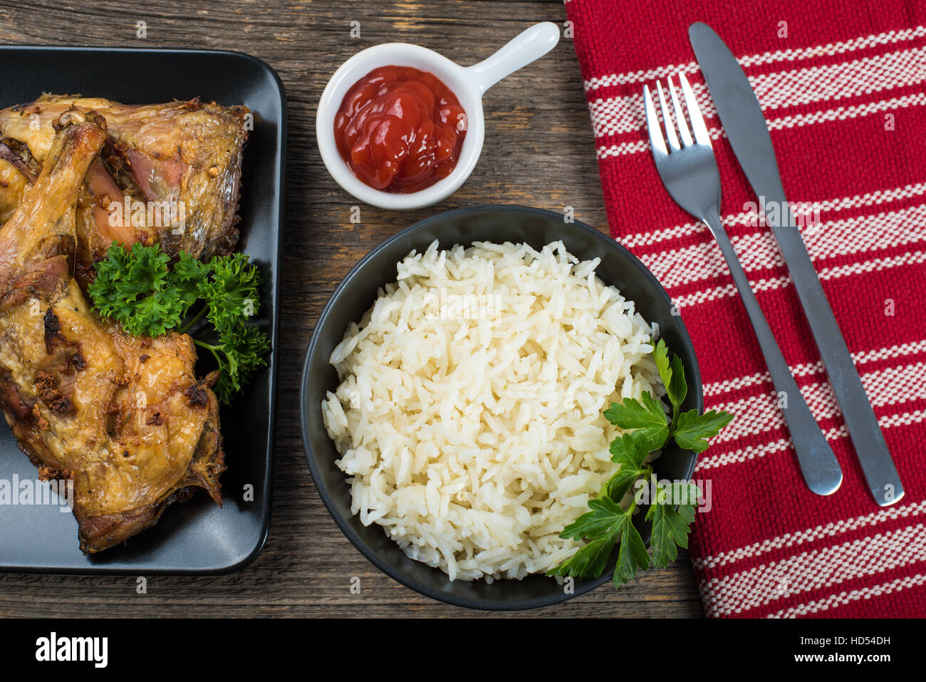
<path id="1" fill-rule="evenodd" d="M 0 405 L 44 478 L 74 481 L 81 549 L 154 524 L 194 487 L 221 503 L 219 406 L 187 335 L 132 337 L 101 320 L 72 275 L 75 206 L 106 120 L 70 109 L 44 166 L 0 228 Z"/>

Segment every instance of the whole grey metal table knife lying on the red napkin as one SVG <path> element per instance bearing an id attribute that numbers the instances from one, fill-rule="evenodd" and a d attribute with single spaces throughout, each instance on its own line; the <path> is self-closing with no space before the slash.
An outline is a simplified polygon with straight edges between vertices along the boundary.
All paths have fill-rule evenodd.
<path id="1" fill-rule="evenodd" d="M 820 357 L 832 384 L 833 394 L 843 411 L 845 427 L 856 448 L 862 472 L 871 495 L 882 507 L 904 496 L 904 487 L 891 453 L 884 442 L 878 420 L 871 409 L 865 388 L 858 378 L 852 356 L 823 293 L 820 278 L 810 262 L 807 246 L 788 208 L 769 128 L 756 93 L 746 79 L 736 57 L 707 24 L 696 22 L 688 29 L 694 55 L 714 100 L 723 130 L 740 162 L 746 179 L 766 206 L 778 211 L 767 213 L 767 222 L 791 271 Z"/>

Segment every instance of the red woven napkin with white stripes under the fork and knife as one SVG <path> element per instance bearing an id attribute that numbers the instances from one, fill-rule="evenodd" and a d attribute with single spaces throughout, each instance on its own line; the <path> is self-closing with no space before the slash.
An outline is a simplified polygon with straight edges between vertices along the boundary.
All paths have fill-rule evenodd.
<path id="1" fill-rule="evenodd" d="M 695 474 L 711 482 L 712 508 L 698 514 L 691 544 L 707 615 L 926 615 L 926 3 L 568 0 L 566 8 L 611 232 L 681 309 L 707 408 L 736 415 Z M 750 217 L 757 199 L 688 42 L 697 20 L 753 83 L 789 200 L 820 209 L 802 233 L 906 487 L 894 506 L 871 498 L 774 239 Z M 679 70 L 714 138 L 724 224 L 843 466 L 832 497 L 801 478 L 720 249 L 657 176 L 641 93 Z"/>

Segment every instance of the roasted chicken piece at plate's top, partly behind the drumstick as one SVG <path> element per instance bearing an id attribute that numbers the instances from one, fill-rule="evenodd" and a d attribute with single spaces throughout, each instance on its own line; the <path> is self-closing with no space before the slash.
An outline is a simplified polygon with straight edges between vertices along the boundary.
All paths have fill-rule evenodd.
<path id="1" fill-rule="evenodd" d="M 0 111 L 0 138 L 18 142 L 24 154 L 44 162 L 54 123 L 71 108 L 95 111 L 108 126 L 79 197 L 76 221 L 84 265 L 102 257 L 114 239 L 158 242 L 170 255 L 184 250 L 202 259 L 232 252 L 238 239 L 234 225 L 247 107 L 221 107 L 198 98 L 129 106 L 96 97 L 43 95 Z M 0 158 L 2 152 L 0 147 Z M 17 200 L 0 184 L 0 211 Z"/>

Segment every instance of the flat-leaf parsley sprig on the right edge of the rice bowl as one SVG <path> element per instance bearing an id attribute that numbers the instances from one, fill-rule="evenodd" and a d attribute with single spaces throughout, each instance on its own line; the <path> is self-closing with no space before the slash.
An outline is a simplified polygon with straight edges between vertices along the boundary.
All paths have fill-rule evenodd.
<path id="1" fill-rule="evenodd" d="M 646 571 L 651 565 L 665 568 L 669 562 L 675 561 L 679 547 L 688 547 L 688 533 L 697 505 L 697 487 L 692 483 L 676 486 L 658 483 L 652 464 L 647 464 L 646 460 L 651 452 L 664 448 L 669 438 L 682 448 L 703 452 L 707 449 L 707 438 L 716 436 L 730 423 L 733 415 L 717 410 L 704 414 L 697 410 L 681 412 L 682 402 L 688 395 L 682 360 L 678 356 L 669 359 L 669 351 L 662 339 L 653 351 L 653 358 L 666 387 L 671 416 L 666 415 L 662 401 L 649 393 L 644 393 L 639 400 L 625 398 L 621 403 L 612 403 L 605 410 L 607 421 L 625 431 L 610 445 L 611 461 L 619 463 L 620 467 L 602 486 L 598 496 L 589 501 L 590 511 L 559 534 L 559 537 L 585 540 L 586 544 L 565 562 L 548 571 L 547 575 L 598 577 L 604 573 L 611 551 L 618 544 L 613 582 L 614 587 L 620 587 L 632 580 L 637 569 Z M 640 478 L 652 481 L 656 490 L 656 499 L 650 500 L 644 517 L 652 522 L 652 558 L 643 537 L 633 525 L 637 497 L 634 496 L 626 509 L 620 506 L 620 500 Z M 679 499 L 673 499 L 673 496 Z"/>

